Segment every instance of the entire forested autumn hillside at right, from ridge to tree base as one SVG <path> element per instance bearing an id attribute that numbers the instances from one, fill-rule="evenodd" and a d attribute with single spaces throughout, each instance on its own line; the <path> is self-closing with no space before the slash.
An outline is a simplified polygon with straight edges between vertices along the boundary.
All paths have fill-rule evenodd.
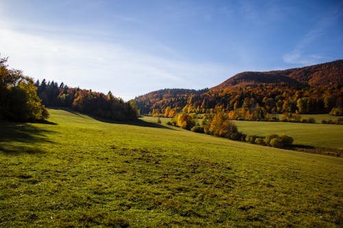
<path id="1" fill-rule="evenodd" d="M 206 113 L 220 107 L 233 119 L 268 120 L 269 114 L 285 112 L 342 114 L 342 86 L 343 60 L 338 60 L 285 71 L 239 73 L 202 93 L 176 90 L 176 96 L 156 101 L 152 92 L 136 101 L 141 114 Z"/>

